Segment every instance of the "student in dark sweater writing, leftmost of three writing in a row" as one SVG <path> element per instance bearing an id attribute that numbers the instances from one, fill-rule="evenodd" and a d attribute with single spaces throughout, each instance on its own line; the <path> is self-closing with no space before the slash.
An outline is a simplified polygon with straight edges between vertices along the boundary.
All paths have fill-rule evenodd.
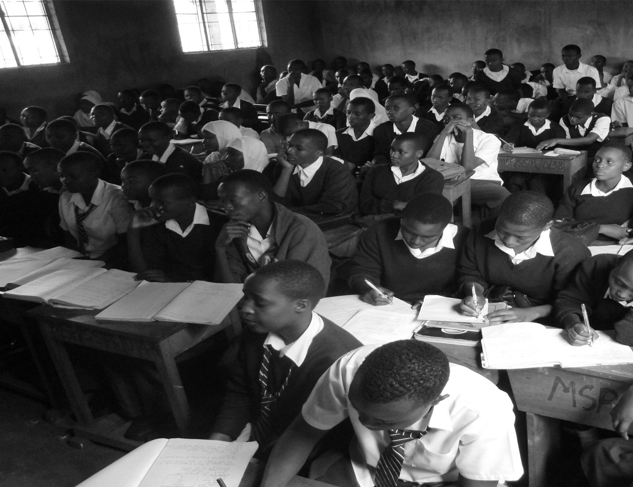
<path id="1" fill-rule="evenodd" d="M 441 194 L 416 194 L 401 218 L 372 225 L 346 264 L 349 287 L 375 306 L 387 304 L 365 279 L 389 298 L 420 301 L 426 294 L 452 296 L 457 290 L 457 263 L 468 234 L 449 223 L 453 205 Z"/>

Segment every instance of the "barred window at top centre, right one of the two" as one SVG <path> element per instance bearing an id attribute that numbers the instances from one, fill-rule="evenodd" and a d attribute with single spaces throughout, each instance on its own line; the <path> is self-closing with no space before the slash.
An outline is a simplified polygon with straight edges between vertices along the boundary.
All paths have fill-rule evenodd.
<path id="1" fill-rule="evenodd" d="M 266 45 L 260 0 L 173 0 L 185 53 Z"/>

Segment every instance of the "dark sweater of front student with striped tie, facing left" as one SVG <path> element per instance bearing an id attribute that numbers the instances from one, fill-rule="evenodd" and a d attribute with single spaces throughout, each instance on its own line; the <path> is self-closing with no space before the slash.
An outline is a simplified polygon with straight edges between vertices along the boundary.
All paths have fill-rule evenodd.
<path id="1" fill-rule="evenodd" d="M 256 334 L 245 329 L 239 342 L 235 343 L 239 348 L 230 367 L 231 375 L 227 382 L 223 405 L 212 429 L 214 433 L 237 438 L 247 422 L 254 424 L 260 416 L 259 373 L 265 339 L 266 334 Z M 349 332 L 323 318 L 323 329 L 313 338 L 303 364 L 292 370 L 284 392 L 272 405 L 271 441 L 275 441 L 301 412 L 303 403 L 323 372 L 348 351 L 361 345 Z M 272 380 L 275 386 L 287 376 L 290 367 L 287 362 L 290 362 L 287 358 L 272 360 L 269 380 Z M 275 386 L 273 389 L 279 390 L 279 386 Z M 260 451 L 266 449 L 266 446 L 270 445 L 260 445 Z"/>

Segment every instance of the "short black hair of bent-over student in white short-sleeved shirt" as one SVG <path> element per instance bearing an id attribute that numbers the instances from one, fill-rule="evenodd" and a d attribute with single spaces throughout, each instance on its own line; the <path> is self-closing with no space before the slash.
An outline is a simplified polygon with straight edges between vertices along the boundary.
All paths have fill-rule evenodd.
<path id="1" fill-rule="evenodd" d="M 451 373 L 439 348 L 418 340 L 398 340 L 373 350 L 358 367 L 360 393 L 368 402 L 410 399 L 427 405 L 441 395 Z"/>

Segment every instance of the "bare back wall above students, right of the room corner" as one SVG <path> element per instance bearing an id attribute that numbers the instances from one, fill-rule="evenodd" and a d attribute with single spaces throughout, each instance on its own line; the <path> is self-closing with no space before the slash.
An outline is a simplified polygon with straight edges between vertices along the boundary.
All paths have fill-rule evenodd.
<path id="1" fill-rule="evenodd" d="M 373 68 L 411 59 L 418 70 L 444 76 L 470 75 L 472 62 L 492 47 L 529 70 L 559 65 L 565 44 L 581 47 L 581 61 L 603 54 L 608 70 L 619 73 L 633 58 L 629 13 L 629 1 L 611 0 L 332 0 L 319 8 L 327 60 L 343 55 Z"/>

